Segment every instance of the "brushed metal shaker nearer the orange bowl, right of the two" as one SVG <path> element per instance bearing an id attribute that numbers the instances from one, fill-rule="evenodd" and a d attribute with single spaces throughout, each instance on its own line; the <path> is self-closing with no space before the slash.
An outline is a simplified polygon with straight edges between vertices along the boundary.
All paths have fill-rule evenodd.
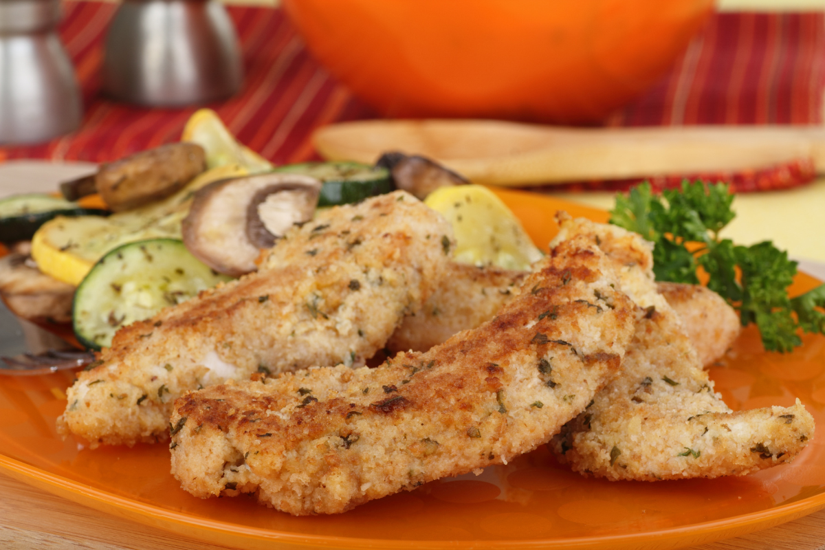
<path id="1" fill-rule="evenodd" d="M 117 8 L 106 35 L 107 95 L 187 106 L 232 96 L 242 83 L 238 37 L 217 0 L 125 0 Z"/>

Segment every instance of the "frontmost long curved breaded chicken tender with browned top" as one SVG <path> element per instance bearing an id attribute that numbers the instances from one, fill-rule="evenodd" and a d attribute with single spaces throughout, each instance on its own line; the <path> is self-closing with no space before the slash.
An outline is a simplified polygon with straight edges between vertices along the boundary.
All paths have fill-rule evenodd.
<path id="1" fill-rule="evenodd" d="M 172 415 L 172 473 L 195 496 L 255 493 L 309 515 L 507 463 L 617 374 L 643 313 L 619 288 L 574 238 L 497 317 L 427 353 L 189 393 Z"/>

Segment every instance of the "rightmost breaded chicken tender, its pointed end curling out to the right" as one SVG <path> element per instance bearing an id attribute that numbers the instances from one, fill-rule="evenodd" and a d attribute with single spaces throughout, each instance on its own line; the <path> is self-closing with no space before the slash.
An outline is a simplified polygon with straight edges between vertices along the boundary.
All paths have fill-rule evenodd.
<path id="1" fill-rule="evenodd" d="M 813 417 L 794 407 L 731 412 L 653 282 L 651 245 L 635 233 L 564 219 L 559 240 L 600 243 L 621 288 L 647 312 L 622 373 L 564 426 L 551 449 L 573 470 L 610 480 L 745 475 L 789 462 L 813 437 Z"/>

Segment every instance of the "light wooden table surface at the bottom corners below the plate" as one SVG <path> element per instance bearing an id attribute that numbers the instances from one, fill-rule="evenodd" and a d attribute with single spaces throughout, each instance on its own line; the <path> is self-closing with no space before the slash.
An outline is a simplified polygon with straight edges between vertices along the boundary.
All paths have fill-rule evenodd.
<path id="1" fill-rule="evenodd" d="M 115 518 L 0 474 L 3 550 L 217 550 L 143 524 Z M 825 510 L 744 537 L 691 550 L 825 550 Z"/>

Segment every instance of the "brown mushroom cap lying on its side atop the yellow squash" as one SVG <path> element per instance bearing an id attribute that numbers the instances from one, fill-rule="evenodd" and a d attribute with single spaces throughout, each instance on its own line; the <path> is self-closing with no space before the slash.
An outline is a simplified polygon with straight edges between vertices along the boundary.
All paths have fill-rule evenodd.
<path id="1" fill-rule="evenodd" d="M 103 164 L 95 187 L 115 211 L 161 200 L 206 169 L 205 153 L 195 143 L 169 143 Z"/>

